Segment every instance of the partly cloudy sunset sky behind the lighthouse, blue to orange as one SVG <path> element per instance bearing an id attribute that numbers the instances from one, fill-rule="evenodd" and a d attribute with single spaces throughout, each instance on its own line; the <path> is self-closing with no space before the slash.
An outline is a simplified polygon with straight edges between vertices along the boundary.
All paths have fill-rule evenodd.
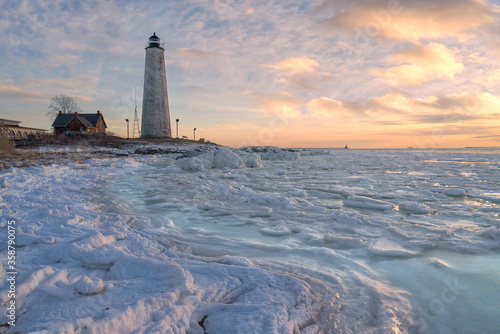
<path id="1" fill-rule="evenodd" d="M 232 147 L 500 146 L 500 6 L 486 0 L 0 0 L 0 118 L 50 99 L 126 136 L 165 43 L 175 135 Z"/>

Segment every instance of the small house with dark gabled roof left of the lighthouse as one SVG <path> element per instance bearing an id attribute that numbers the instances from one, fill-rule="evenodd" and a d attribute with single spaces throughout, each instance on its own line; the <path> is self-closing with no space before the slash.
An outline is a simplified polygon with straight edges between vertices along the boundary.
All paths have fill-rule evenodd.
<path id="1" fill-rule="evenodd" d="M 71 132 L 90 132 L 90 133 L 105 133 L 106 132 L 106 122 L 101 112 L 97 110 L 95 114 L 63 114 L 59 112 L 54 123 L 54 135 L 60 135 L 66 131 Z"/>

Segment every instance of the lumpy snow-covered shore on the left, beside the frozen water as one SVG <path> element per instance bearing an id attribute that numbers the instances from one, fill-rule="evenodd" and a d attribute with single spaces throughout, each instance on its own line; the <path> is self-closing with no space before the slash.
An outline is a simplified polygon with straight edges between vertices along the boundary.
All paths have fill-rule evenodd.
<path id="1" fill-rule="evenodd" d="M 307 321 L 306 309 L 317 299 L 307 284 L 251 265 L 232 266 L 238 258 L 226 257 L 226 264 L 201 262 L 131 228 L 130 217 L 103 213 L 99 206 L 106 199 L 93 197 L 102 194 L 95 187 L 135 165 L 117 158 L 91 159 L 0 174 L 2 216 L 17 225 L 18 318 L 9 330 L 202 333 L 202 327 L 223 326 L 202 323 L 204 305 L 221 308 L 234 303 L 231 298 L 256 302 L 247 308 L 234 306 L 235 314 L 268 308 L 268 316 L 256 312 L 258 318 L 246 325 L 236 319 L 241 332 L 259 331 L 259 326 L 292 332 Z M 1 224 L 5 231 L 6 221 Z M 4 277 L 5 271 L 2 283 Z M 249 284 L 265 287 L 276 299 L 266 301 L 265 294 L 246 288 Z M 5 289 L 0 300 L 8 300 Z M 0 312 L 7 323 L 5 310 Z M 234 325 L 224 323 L 227 328 Z"/>

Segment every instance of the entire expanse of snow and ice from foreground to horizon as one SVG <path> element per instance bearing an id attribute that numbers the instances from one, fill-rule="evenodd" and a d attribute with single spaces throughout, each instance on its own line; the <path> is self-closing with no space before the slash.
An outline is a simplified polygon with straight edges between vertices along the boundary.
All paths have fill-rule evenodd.
<path id="1" fill-rule="evenodd" d="M 185 151 L 1 172 L 0 332 L 498 333 L 499 150 Z"/>

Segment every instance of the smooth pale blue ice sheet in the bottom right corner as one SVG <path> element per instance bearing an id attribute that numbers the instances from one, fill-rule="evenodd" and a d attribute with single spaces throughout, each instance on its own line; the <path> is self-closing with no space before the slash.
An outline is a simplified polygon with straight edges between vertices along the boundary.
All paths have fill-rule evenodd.
<path id="1" fill-rule="evenodd" d="M 419 333 L 496 333 L 499 328 L 499 255 L 434 251 L 373 267 L 415 299 Z"/>

